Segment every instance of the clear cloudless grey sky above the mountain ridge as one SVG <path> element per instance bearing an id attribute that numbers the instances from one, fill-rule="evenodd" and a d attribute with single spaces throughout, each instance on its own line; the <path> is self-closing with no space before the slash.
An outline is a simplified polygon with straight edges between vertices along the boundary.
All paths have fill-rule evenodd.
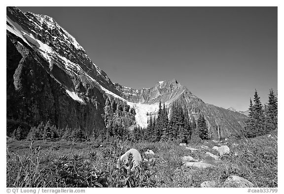
<path id="1" fill-rule="evenodd" d="M 205 103 L 246 111 L 277 91 L 277 7 L 18 7 L 49 15 L 112 82 L 177 79 Z"/>

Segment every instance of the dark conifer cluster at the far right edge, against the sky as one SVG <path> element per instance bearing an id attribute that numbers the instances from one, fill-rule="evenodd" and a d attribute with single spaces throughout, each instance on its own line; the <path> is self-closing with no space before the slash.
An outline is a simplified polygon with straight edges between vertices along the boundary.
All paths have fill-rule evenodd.
<path id="1" fill-rule="evenodd" d="M 270 89 L 267 105 L 262 105 L 255 89 L 253 103 L 249 99 L 249 115 L 246 126 L 241 135 L 247 138 L 256 137 L 277 129 L 278 125 L 278 99 L 275 92 Z"/>

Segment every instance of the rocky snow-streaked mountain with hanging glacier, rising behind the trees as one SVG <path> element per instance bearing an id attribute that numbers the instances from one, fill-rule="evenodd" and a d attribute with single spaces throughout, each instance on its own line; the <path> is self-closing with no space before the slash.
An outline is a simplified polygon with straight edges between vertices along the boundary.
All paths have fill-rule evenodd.
<path id="1" fill-rule="evenodd" d="M 204 114 L 213 139 L 226 138 L 245 124 L 245 115 L 204 103 L 176 79 L 142 89 L 113 83 L 53 18 L 6 9 L 7 133 L 17 123 L 29 128 L 47 120 L 59 128 L 81 127 L 87 134 L 113 122 L 145 127 L 160 100 L 170 116 L 175 100 L 191 120 Z"/>

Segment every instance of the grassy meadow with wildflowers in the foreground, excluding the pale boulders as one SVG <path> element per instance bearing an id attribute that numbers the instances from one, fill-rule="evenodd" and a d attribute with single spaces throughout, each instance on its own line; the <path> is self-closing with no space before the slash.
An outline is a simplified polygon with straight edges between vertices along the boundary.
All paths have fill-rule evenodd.
<path id="1" fill-rule="evenodd" d="M 217 187 L 229 175 L 248 179 L 255 187 L 278 187 L 277 132 L 252 139 L 228 139 L 222 142 L 189 144 L 190 151 L 168 143 L 104 143 L 7 140 L 7 187 L 200 187 L 214 181 Z M 219 144 L 219 145 L 218 145 Z M 231 152 L 214 160 L 213 146 L 227 145 Z M 118 162 L 130 148 L 142 154 L 142 166 Z M 145 155 L 152 150 L 155 155 Z M 213 167 L 186 168 L 182 156 L 192 156 Z M 131 161 L 131 160 L 130 160 Z M 230 187 L 236 187 L 231 185 Z"/>

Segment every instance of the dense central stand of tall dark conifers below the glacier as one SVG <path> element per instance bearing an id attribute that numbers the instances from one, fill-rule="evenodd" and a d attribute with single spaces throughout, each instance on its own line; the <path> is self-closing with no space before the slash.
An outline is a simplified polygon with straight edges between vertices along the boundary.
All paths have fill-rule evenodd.
<path id="1" fill-rule="evenodd" d="M 150 141 L 150 142 L 166 142 L 180 140 L 181 143 L 188 143 L 191 140 L 208 140 L 208 124 L 204 115 L 200 114 L 197 119 L 189 118 L 186 107 L 182 107 L 178 101 L 173 102 L 172 114 L 169 119 L 167 107 L 165 103 L 163 108 L 161 101 L 157 117 L 149 114 L 148 126 L 142 128 L 136 126 L 133 130 L 135 141 Z M 193 135 L 194 134 L 194 135 Z"/>

